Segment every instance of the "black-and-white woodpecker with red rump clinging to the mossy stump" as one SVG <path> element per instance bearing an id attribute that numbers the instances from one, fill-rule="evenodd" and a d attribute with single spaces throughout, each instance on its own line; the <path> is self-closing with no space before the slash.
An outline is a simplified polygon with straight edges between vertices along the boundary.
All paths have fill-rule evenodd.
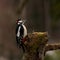
<path id="1" fill-rule="evenodd" d="M 27 28 L 24 25 L 24 22 L 21 19 L 18 19 L 16 22 L 16 41 L 17 41 L 17 46 L 23 49 L 23 52 L 25 52 L 24 49 L 24 41 L 25 37 L 27 36 Z"/>

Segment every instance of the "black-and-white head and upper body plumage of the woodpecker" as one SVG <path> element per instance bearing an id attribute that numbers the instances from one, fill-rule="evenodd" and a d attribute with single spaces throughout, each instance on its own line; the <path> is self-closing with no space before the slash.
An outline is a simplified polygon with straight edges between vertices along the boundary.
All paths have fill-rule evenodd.
<path id="1" fill-rule="evenodd" d="M 23 36 L 25 37 L 27 35 L 27 29 L 26 26 L 23 24 L 22 21 L 18 21 L 18 29 L 17 29 L 17 37 Z"/>

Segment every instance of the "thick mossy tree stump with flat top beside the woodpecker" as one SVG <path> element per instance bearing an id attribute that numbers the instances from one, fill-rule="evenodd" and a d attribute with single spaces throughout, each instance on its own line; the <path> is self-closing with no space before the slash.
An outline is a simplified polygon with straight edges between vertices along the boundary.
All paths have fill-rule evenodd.
<path id="1" fill-rule="evenodd" d="M 24 43 L 26 52 L 24 53 L 23 60 L 43 60 L 47 41 L 47 32 L 28 34 Z"/>

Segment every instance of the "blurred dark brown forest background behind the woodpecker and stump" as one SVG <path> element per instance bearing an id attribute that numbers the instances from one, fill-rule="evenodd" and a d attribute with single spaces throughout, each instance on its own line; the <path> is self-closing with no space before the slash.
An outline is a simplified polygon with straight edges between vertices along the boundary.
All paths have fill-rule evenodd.
<path id="1" fill-rule="evenodd" d="M 23 1 L 25 0 L 0 0 L 1 59 L 20 59 L 21 52 L 16 46 L 15 39 L 18 17 L 26 20 L 28 33 L 47 31 L 49 43 L 60 41 L 60 0 L 26 0 L 22 5 Z"/>

